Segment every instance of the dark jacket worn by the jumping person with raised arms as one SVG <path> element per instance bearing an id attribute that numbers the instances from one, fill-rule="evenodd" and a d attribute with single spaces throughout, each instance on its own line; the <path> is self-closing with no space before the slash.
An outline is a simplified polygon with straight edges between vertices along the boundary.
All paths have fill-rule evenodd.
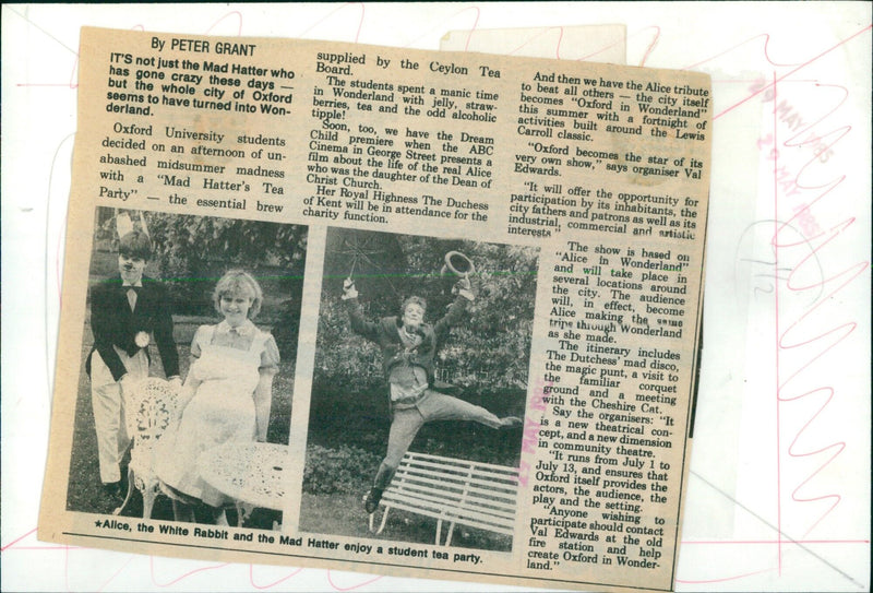
<path id="1" fill-rule="evenodd" d="M 391 369 L 408 360 L 409 364 L 423 368 L 428 373 L 428 382 L 433 382 L 436 349 L 449 335 L 452 325 L 455 325 L 464 316 L 469 301 L 463 296 L 455 298 L 445 316 L 436 323 L 422 323 L 418 332 L 421 335 L 419 344 L 411 353 L 406 354 L 398 329 L 403 327 L 400 318 L 383 317 L 379 321 L 367 321 L 363 318 L 361 306 L 357 298 L 346 300 L 351 329 L 366 339 L 375 342 L 382 349 L 382 369 L 385 380 L 391 375 Z"/>

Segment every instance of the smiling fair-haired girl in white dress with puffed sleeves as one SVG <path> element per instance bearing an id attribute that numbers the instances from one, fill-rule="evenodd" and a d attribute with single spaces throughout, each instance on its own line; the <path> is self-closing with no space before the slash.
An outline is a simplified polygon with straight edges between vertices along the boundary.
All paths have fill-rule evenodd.
<path id="1" fill-rule="evenodd" d="M 201 325 L 191 343 L 191 368 L 180 393 L 181 416 L 162 438 L 156 473 L 170 495 L 177 521 L 193 521 L 195 507 L 204 522 L 224 520 L 232 502 L 201 477 L 201 453 L 229 441 L 263 442 L 270 424 L 273 377 L 279 354 L 273 336 L 259 330 L 263 293 L 248 273 L 226 273 L 213 294 L 224 320 Z M 203 506 L 206 506 L 203 509 Z"/>

